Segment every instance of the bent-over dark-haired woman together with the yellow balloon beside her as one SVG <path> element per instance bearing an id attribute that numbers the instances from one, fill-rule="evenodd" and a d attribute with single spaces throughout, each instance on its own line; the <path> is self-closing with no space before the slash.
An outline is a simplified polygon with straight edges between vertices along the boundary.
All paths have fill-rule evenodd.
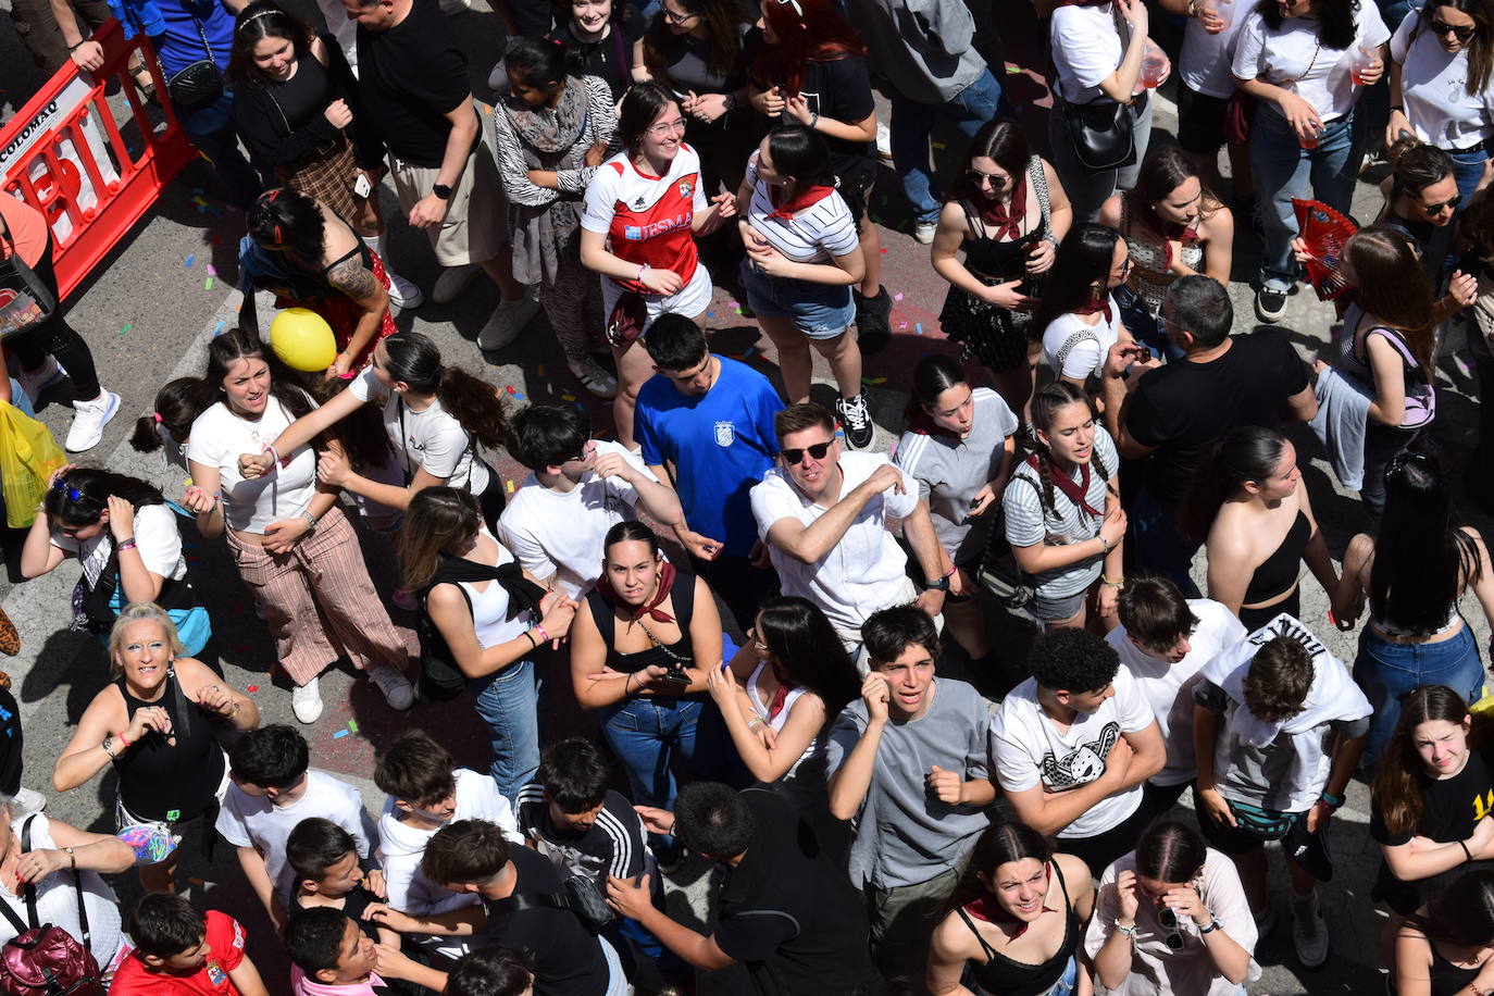
<path id="1" fill-rule="evenodd" d="M 290 187 L 267 190 L 248 211 L 239 242 L 241 326 L 252 327 L 255 287 L 275 291 L 275 352 L 297 370 L 348 379 L 374 345 L 394 333 L 384 263 L 330 208 Z"/>

